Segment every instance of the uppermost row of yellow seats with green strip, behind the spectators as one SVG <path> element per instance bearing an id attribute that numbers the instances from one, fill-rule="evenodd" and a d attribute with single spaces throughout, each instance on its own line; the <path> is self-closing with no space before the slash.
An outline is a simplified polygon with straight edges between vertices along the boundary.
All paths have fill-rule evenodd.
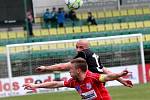
<path id="1" fill-rule="evenodd" d="M 77 13 L 77 17 L 80 19 L 80 21 L 76 22 L 77 23 L 76 25 L 80 26 L 86 24 L 86 19 L 88 16 L 87 13 L 88 12 Z M 97 19 L 98 24 L 143 21 L 149 20 L 150 9 L 138 8 L 138 9 L 123 9 L 120 11 L 118 10 L 93 11 L 92 14 Z M 35 18 L 35 23 L 43 24 L 42 17 L 39 16 Z M 72 26 L 72 21 L 67 20 L 65 26 Z"/>

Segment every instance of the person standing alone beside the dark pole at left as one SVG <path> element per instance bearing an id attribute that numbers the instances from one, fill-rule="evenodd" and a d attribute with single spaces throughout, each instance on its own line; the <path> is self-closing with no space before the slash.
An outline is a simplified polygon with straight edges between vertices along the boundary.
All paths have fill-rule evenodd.
<path id="1" fill-rule="evenodd" d="M 32 11 L 29 10 L 27 11 L 27 31 L 28 31 L 28 34 L 29 36 L 33 36 L 33 29 L 32 29 L 32 23 L 33 23 L 33 16 L 32 16 Z"/>

